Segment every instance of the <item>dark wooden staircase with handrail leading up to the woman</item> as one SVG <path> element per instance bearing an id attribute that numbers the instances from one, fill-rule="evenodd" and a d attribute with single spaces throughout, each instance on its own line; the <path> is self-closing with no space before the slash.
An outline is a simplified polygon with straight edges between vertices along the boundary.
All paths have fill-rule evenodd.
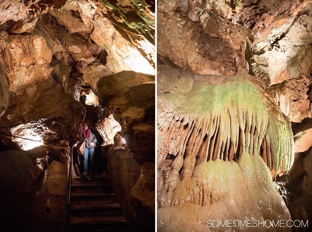
<path id="1" fill-rule="evenodd" d="M 70 231 L 128 231 L 108 175 L 74 176 L 70 199 Z"/>

